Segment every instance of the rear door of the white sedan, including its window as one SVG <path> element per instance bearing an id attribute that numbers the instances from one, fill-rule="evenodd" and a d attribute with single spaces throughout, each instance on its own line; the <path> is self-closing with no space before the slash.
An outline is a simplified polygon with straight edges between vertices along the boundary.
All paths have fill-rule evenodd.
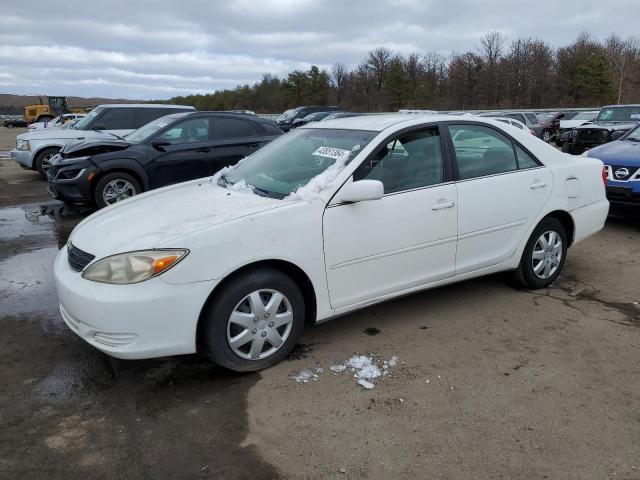
<path id="1" fill-rule="evenodd" d="M 449 125 L 457 167 L 456 275 L 514 254 L 551 194 L 552 176 L 502 130 L 472 122 Z"/>

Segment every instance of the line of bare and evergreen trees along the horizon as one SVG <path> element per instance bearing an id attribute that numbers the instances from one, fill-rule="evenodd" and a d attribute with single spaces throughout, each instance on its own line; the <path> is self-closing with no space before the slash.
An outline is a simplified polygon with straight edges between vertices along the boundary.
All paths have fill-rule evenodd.
<path id="1" fill-rule="evenodd" d="M 501 33 L 489 32 L 464 53 L 403 56 L 380 47 L 352 68 L 338 62 L 328 70 L 295 70 L 286 78 L 265 74 L 253 85 L 169 101 L 198 110 L 261 113 L 299 105 L 382 112 L 640 103 L 640 43 L 617 34 L 598 41 L 582 33 L 554 49 L 540 39 L 508 43 Z"/>

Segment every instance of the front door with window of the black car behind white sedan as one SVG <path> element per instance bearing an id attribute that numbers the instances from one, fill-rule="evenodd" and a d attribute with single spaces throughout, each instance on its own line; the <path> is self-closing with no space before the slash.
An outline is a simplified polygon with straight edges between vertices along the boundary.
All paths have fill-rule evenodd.
<path id="1" fill-rule="evenodd" d="M 210 121 L 190 117 L 150 141 L 147 172 L 152 188 L 208 175 L 213 159 Z M 154 142 L 166 145 L 154 147 Z"/>

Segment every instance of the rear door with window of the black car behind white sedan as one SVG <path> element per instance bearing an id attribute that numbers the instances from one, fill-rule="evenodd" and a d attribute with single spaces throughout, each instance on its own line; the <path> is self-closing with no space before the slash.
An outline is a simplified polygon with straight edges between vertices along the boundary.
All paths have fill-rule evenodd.
<path id="1" fill-rule="evenodd" d="M 266 140 L 250 120 L 236 117 L 214 117 L 213 159 L 209 173 L 235 165 L 258 150 Z"/>

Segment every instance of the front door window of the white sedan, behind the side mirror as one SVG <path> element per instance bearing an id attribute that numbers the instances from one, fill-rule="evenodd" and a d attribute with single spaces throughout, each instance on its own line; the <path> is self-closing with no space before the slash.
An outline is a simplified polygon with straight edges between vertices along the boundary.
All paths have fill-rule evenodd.
<path id="1" fill-rule="evenodd" d="M 354 180 L 379 180 L 385 193 L 441 183 L 444 162 L 437 129 L 413 132 L 389 142 L 358 167 Z"/>

